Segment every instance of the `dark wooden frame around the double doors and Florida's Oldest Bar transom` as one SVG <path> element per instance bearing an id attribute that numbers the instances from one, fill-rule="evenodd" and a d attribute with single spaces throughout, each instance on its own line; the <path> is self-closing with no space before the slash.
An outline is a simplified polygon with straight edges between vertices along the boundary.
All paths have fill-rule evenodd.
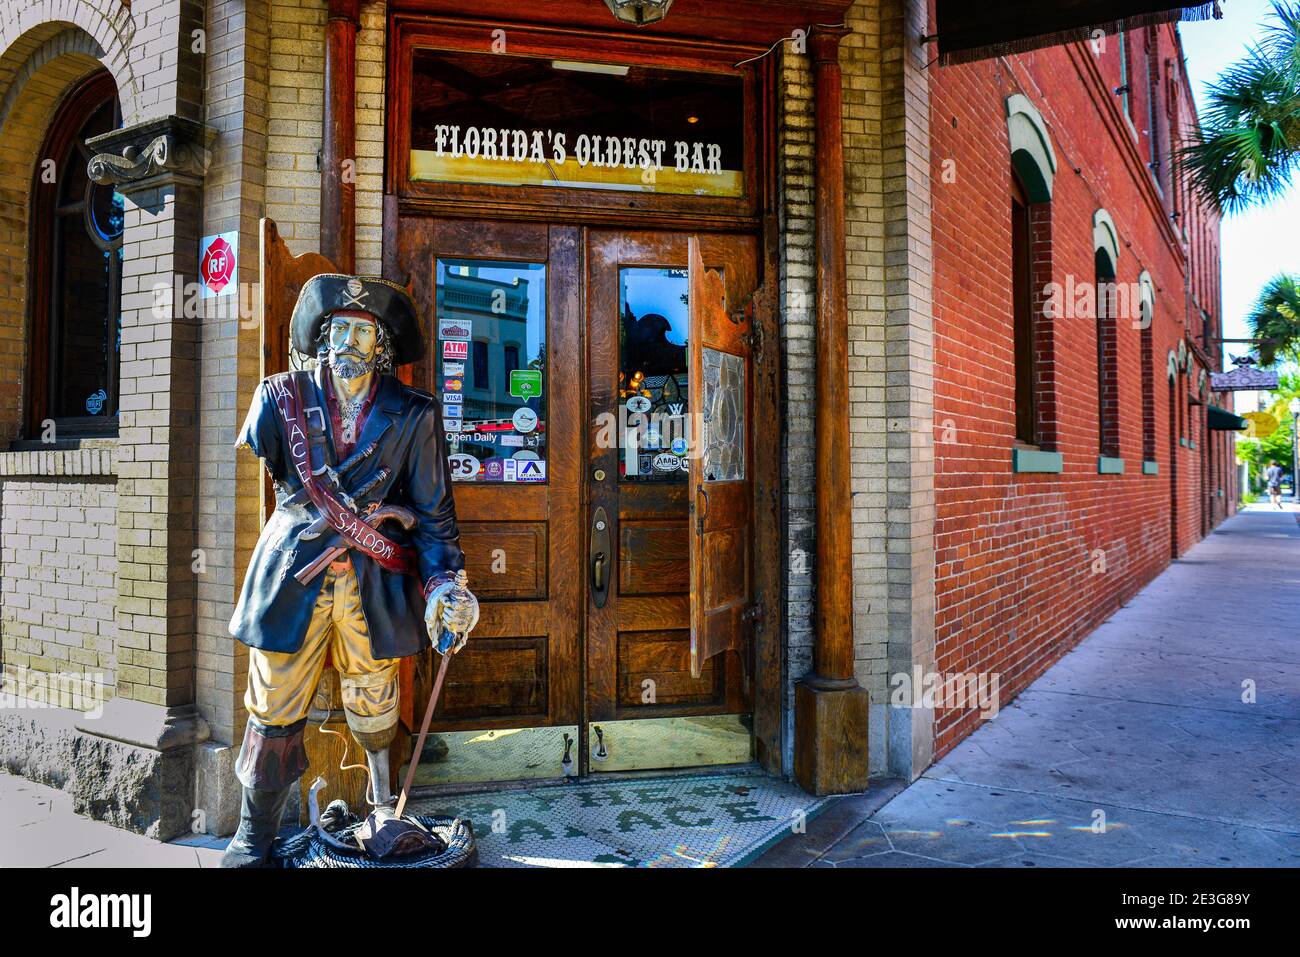
<path id="1" fill-rule="evenodd" d="M 489 10 L 482 7 L 485 0 L 465 3 L 438 3 L 422 4 L 417 1 L 402 3 L 391 8 L 390 26 L 395 23 L 399 13 L 407 13 L 407 22 L 415 17 L 410 16 L 419 9 L 426 13 L 437 7 L 438 13 L 450 17 L 474 18 L 489 16 Z M 504 0 L 510 3 L 510 0 Z M 460 9 L 464 7 L 464 9 Z M 566 4 L 566 7 L 568 7 Z M 779 1 L 774 7 L 786 7 L 784 13 L 797 21 L 796 26 L 806 26 L 807 22 L 838 22 L 836 12 L 842 13 L 842 0 L 812 0 L 812 3 Z M 826 8 L 818 10 L 826 16 L 807 17 L 812 8 Z M 832 10 L 831 8 L 835 8 Z M 520 8 L 511 7 L 511 12 L 519 16 Z M 542 8 L 529 9 L 529 17 Z M 547 10 L 552 8 L 546 8 Z M 712 9 L 712 8 L 710 8 Z M 493 10 L 495 13 L 495 10 Z M 722 13 L 720 10 L 718 12 Z M 602 5 L 584 9 L 582 14 L 590 14 L 604 23 L 608 12 Z M 835 14 L 835 16 L 832 16 Z M 550 14 L 547 14 L 550 16 Z M 559 16 L 559 14 L 556 14 Z M 568 14 L 567 14 L 568 16 Z M 432 18 L 425 16 L 428 23 Z M 754 43 L 766 49 L 770 40 L 760 38 L 757 25 L 745 17 L 723 17 L 725 21 L 722 33 L 702 34 L 716 38 L 723 46 L 729 46 L 732 51 Z M 481 21 L 478 21 L 481 22 Z M 569 21 L 571 26 L 580 21 Z M 679 26 L 685 18 L 676 16 L 670 18 L 670 25 Z M 494 26 L 500 26 L 495 22 Z M 542 26 L 534 20 L 534 29 Z M 595 21 L 581 23 L 589 31 L 599 29 Z M 415 27 L 412 27 L 415 29 Z M 710 27 L 712 30 L 712 26 Z M 793 29 L 793 27 L 792 27 Z M 559 34 L 572 33 L 572 30 L 552 31 Z M 655 38 L 656 29 L 637 31 L 632 36 L 627 31 L 614 31 L 608 39 L 637 39 L 645 43 L 645 49 L 651 47 L 659 51 L 671 49 L 680 42 L 680 36 Z M 676 34 L 676 30 L 671 33 Z M 789 30 L 783 26 L 783 35 Z M 658 44 L 651 44 L 655 38 Z M 759 43 L 762 40 L 762 43 Z M 398 51 L 402 48 L 398 31 L 389 30 L 389 55 L 386 69 L 387 92 L 391 96 L 404 81 L 398 75 L 400 59 Z M 693 49 L 702 49 L 698 44 Z M 387 114 L 387 137 L 385 144 L 385 196 L 384 196 L 384 274 L 385 277 L 402 283 L 412 283 L 420 289 L 421 283 L 429 286 L 426 295 L 432 295 L 432 276 L 421 276 L 421 269 L 416 259 L 411 255 L 412 246 L 429 225 L 437 218 L 495 218 L 510 220 L 512 222 L 556 222 L 573 224 L 576 239 L 572 256 L 575 256 L 575 269 L 585 277 L 585 234 L 581 228 L 602 229 L 644 229 L 644 230 L 671 230 L 680 233 L 749 233 L 758 237 L 758 281 L 759 287 L 755 294 L 754 329 L 758 337 L 755 358 L 753 363 L 754 373 L 754 421 L 755 423 L 781 423 L 784 437 L 785 420 L 781 417 L 781 339 L 779 324 L 779 264 L 780 264 L 780 225 L 776 213 L 777 200 L 777 127 L 779 127 L 779 96 L 777 96 L 777 70 L 776 57 L 768 56 L 758 61 L 753 69 L 754 77 L 754 109 L 757 120 L 754 122 L 754 135 L 746 143 L 754 144 L 751 160 L 753 177 L 748 182 L 753 183 L 753 191 L 746 198 L 750 202 L 748 211 L 742 215 L 720 215 L 716 209 L 705 209 L 699 204 L 681 204 L 673 211 L 656 208 L 593 208 L 585 204 L 581 195 L 575 196 L 567 205 L 555 203 L 520 205 L 502 204 L 493 202 L 488 195 L 480 195 L 474 202 L 450 202 L 448 199 L 436 199 L 429 195 L 411 196 L 408 190 L 399 189 L 398 169 L 395 157 L 406 142 L 406 134 L 400 133 L 404 126 L 403 111 L 390 108 Z M 393 100 L 390 100 L 390 107 Z M 552 191 L 554 192 L 554 191 Z M 575 190 L 575 194 L 582 194 Z M 623 194 L 620 194 L 623 195 Z M 569 254 L 566 254 L 569 255 Z M 581 283 L 577 283 L 581 286 Z M 577 320 L 585 335 L 585 300 L 581 287 L 575 293 L 577 300 L 568 303 L 566 309 L 575 309 L 580 316 Z M 422 321 L 428 322 L 425 317 Z M 580 342 L 580 348 L 585 350 L 585 339 Z M 425 359 L 424 363 L 429 360 Z M 426 381 L 429 367 L 421 363 L 416 367 L 416 376 Z M 585 363 L 584 363 L 585 369 Z M 584 372 L 585 374 L 585 372 Z M 581 384 L 585 402 L 588 384 Z M 585 416 L 584 416 L 585 419 Z M 585 428 L 589 428 L 588 423 Z M 586 447 L 586 434 L 582 434 L 584 449 Z M 754 601 L 760 606 L 762 614 L 754 622 L 753 635 L 753 722 L 754 722 L 754 754 L 757 762 L 772 774 L 785 774 L 792 768 L 785 762 L 785 684 L 788 675 L 786 662 L 786 585 L 789 581 L 789 533 L 781 518 L 781 442 L 755 442 L 754 443 L 754 506 L 753 506 L 753 550 L 754 550 Z M 586 482 L 582 488 L 586 489 Z M 581 498 L 581 515 L 584 523 L 589 523 L 588 502 Z M 589 532 L 588 524 L 582 524 L 581 533 Z M 585 559 L 585 547 L 584 547 Z M 585 566 L 584 566 L 585 568 Z M 585 586 L 582 589 L 585 594 Z M 584 599 L 585 601 L 585 599 Z M 585 641 L 585 635 L 584 638 Z M 585 655 L 584 655 L 585 657 Z M 580 680 L 585 683 L 585 674 Z M 406 693 L 407 689 L 403 689 Z M 413 696 L 408 696 L 413 697 Z M 793 701 L 790 702 L 793 709 Z M 403 707 L 403 711 L 406 709 Z M 585 724 L 582 726 L 585 727 Z M 584 753 L 586 749 L 584 748 Z"/>

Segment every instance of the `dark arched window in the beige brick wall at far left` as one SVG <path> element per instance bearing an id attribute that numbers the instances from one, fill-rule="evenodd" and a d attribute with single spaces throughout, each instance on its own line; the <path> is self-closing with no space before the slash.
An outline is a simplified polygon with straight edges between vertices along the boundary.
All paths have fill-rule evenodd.
<path id="1" fill-rule="evenodd" d="M 58 107 L 36 164 L 29 438 L 117 434 L 122 198 L 87 177 L 86 140 L 121 122 L 113 78 L 96 73 Z"/>

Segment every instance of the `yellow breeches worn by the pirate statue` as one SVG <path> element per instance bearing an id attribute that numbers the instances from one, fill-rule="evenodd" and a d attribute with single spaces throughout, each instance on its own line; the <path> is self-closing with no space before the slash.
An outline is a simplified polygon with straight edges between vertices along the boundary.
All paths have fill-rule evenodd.
<path id="1" fill-rule="evenodd" d="M 352 563 L 325 570 L 303 645 L 291 654 L 248 649 L 244 707 L 263 724 L 292 724 L 307 716 L 329 653 L 339 672 L 343 711 L 354 733 L 374 740 L 398 720 L 399 658 L 370 655 L 361 592 Z M 359 739 L 360 740 L 360 739 Z"/>

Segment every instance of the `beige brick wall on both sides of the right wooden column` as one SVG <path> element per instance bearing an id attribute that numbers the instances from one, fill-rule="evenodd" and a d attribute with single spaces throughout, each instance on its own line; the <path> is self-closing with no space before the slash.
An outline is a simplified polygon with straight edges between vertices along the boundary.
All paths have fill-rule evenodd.
<path id="1" fill-rule="evenodd" d="M 855 672 L 872 703 L 872 774 L 910 774 L 890 745 L 889 676 L 933 658 L 930 174 L 923 64 L 904 44 L 920 0 L 859 0 L 844 73 Z M 919 21 L 918 21 L 919 17 Z M 916 34 L 919 35 L 919 33 Z M 914 44 L 913 44 L 914 46 Z M 815 130 L 807 56 L 781 61 L 779 170 L 785 369 L 789 690 L 811 667 L 815 594 Z M 806 571 L 801 571 L 806 568 Z M 789 703 L 789 702 L 788 702 Z M 928 715 L 913 713 L 928 740 Z M 793 714 L 788 711 L 788 741 Z M 922 727 L 924 726 L 924 727 Z M 894 733 L 902 732 L 896 729 Z M 906 728 L 910 740 L 911 729 Z M 928 761 L 926 762 L 928 763 Z M 923 767 L 923 765 L 922 765 Z M 920 768 L 916 768 L 919 772 Z"/>

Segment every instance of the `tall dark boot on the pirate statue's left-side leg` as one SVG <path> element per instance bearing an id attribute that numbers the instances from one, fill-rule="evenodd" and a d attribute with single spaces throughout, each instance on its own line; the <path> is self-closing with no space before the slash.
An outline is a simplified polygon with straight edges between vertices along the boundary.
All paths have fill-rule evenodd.
<path id="1" fill-rule="evenodd" d="M 243 785 L 239 830 L 221 856 L 222 867 L 270 866 L 270 845 L 285 805 L 294 783 L 307 770 L 306 727 L 306 718 L 285 727 L 248 720 L 235 762 L 235 776 Z"/>

